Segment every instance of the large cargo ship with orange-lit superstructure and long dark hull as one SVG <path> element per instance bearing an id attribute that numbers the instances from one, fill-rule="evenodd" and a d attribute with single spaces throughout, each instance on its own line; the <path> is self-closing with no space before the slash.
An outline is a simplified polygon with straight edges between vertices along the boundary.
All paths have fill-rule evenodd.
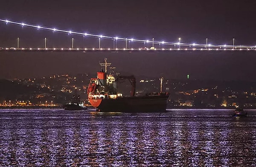
<path id="1" fill-rule="evenodd" d="M 129 113 L 166 111 L 169 93 L 164 93 L 161 90 L 160 93 L 135 96 L 136 79 L 133 75 L 107 74 L 107 67 L 111 65 L 107 59 L 104 63 L 99 64 L 105 66 L 105 71 L 97 72 L 97 78 L 91 78 L 87 88 L 88 101 L 98 111 Z M 123 96 L 117 89 L 117 83 L 124 79 L 128 79 L 131 83 L 130 96 Z"/>

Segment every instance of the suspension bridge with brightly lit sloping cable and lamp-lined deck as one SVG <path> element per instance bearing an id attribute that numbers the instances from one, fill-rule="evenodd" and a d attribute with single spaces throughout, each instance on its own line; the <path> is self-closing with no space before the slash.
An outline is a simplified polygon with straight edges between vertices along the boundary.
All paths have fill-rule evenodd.
<path id="1" fill-rule="evenodd" d="M 30 28 L 36 28 L 38 30 L 45 30 L 45 31 L 52 31 L 52 32 L 59 32 L 59 33 L 66 33 L 66 34 L 73 34 L 73 35 L 79 35 L 83 37 L 90 37 L 90 38 L 96 38 L 98 40 L 98 44 L 93 47 L 76 47 L 74 45 L 74 38 L 71 39 L 70 47 L 63 47 L 63 48 L 54 48 L 49 47 L 47 45 L 47 37 L 44 38 L 44 44 L 42 47 L 26 47 L 22 48 L 20 47 L 20 38 L 17 37 L 16 43 L 14 44 L 15 47 L 1 47 L 0 51 L 41 51 L 41 52 L 47 52 L 47 51 L 83 51 L 83 52 L 116 52 L 116 51 L 128 51 L 128 52 L 136 52 L 136 51 L 143 51 L 143 52 L 167 52 L 167 51 L 256 51 L 256 45 L 236 45 L 235 39 L 233 38 L 233 45 L 226 45 L 226 44 L 210 44 L 208 43 L 208 39 L 206 38 L 205 43 L 186 43 L 181 42 L 181 38 L 178 38 L 177 42 L 170 42 L 170 41 L 159 41 L 154 40 L 152 38 L 151 40 L 145 40 L 145 39 L 136 39 L 136 38 L 129 38 L 129 37 L 112 37 L 112 36 L 106 36 L 101 34 L 90 34 L 90 33 L 84 33 L 84 32 L 78 32 L 78 31 L 70 31 L 70 30 L 64 30 L 64 29 L 58 29 L 58 28 L 51 28 L 41 25 L 35 25 L 35 24 L 27 24 L 27 23 L 20 23 L 10 20 L 3 20 L 0 19 L 1 23 L 8 24 L 14 24 L 14 25 L 20 25 L 22 27 L 30 27 Z M 102 46 L 102 40 L 104 42 L 113 42 L 113 47 L 104 47 Z M 120 44 L 118 45 L 118 42 Z M 133 43 L 133 45 L 131 45 Z M 142 45 L 136 45 L 141 44 Z"/>

